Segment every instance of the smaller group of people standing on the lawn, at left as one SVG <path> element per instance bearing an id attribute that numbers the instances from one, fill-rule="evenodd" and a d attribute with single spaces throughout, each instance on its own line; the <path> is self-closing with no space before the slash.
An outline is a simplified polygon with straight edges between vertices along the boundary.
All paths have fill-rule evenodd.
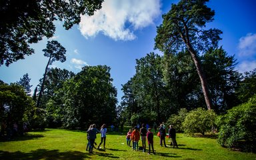
<path id="1" fill-rule="evenodd" d="M 95 139 L 96 139 L 96 134 L 97 133 L 101 133 L 101 143 L 99 143 L 98 149 L 101 146 L 101 144 L 103 143 L 103 148 L 105 148 L 105 144 L 106 144 L 106 133 L 107 133 L 107 127 L 105 124 L 103 124 L 101 126 L 100 131 L 96 128 L 96 125 L 90 125 L 89 129 L 87 130 L 87 147 L 86 147 L 86 151 L 89 151 L 89 153 L 93 153 L 93 148 L 96 149 L 95 145 L 97 145 L 97 143 L 95 143 Z"/>

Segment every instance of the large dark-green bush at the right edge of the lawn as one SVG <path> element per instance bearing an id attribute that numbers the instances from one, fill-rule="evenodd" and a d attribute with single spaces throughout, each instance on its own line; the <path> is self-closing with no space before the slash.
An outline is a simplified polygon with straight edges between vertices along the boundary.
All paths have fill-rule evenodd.
<path id="1" fill-rule="evenodd" d="M 256 96 L 219 117 L 219 128 L 218 142 L 222 146 L 255 151 Z"/>

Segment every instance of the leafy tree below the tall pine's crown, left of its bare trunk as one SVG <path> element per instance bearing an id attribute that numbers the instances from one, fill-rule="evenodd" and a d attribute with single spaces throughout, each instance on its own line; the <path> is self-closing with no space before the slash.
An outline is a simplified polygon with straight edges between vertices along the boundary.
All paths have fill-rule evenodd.
<path id="1" fill-rule="evenodd" d="M 198 91 L 199 79 L 189 53 L 165 53 L 162 65 L 167 98 L 173 111 L 171 114 L 177 113 L 181 108 L 191 110 L 198 107 L 199 96 L 195 91 Z"/>

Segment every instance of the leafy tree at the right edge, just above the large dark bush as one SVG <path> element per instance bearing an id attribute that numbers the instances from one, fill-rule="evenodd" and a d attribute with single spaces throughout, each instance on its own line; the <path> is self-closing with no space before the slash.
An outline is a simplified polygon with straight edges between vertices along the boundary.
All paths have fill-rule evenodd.
<path id="1" fill-rule="evenodd" d="M 256 69 L 245 72 L 242 79 L 239 89 L 237 89 L 237 95 L 239 100 L 245 103 L 256 94 Z"/>

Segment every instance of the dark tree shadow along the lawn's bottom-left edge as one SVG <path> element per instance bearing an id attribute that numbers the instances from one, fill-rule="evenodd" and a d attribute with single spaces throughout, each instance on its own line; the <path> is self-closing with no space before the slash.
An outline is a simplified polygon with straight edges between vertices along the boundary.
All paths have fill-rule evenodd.
<path id="1" fill-rule="evenodd" d="M 89 158 L 88 155 L 80 151 L 66 151 L 60 152 L 57 149 L 48 150 L 48 149 L 37 149 L 29 153 L 23 153 L 21 151 L 16 151 L 14 153 L 8 151 L 0 151 L 0 159 L 19 159 L 19 160 L 32 160 L 32 159 L 46 159 L 46 160 L 79 160 Z"/>

